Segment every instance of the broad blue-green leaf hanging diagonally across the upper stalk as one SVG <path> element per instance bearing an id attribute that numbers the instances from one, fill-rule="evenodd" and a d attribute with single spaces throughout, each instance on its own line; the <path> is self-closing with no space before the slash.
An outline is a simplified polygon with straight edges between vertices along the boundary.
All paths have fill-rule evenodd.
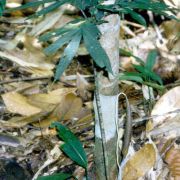
<path id="1" fill-rule="evenodd" d="M 82 31 L 85 46 L 95 63 L 101 68 L 105 67 L 108 72 L 112 73 L 109 58 L 97 40 L 99 32 L 97 27 L 94 24 L 86 23 L 82 25 Z"/>

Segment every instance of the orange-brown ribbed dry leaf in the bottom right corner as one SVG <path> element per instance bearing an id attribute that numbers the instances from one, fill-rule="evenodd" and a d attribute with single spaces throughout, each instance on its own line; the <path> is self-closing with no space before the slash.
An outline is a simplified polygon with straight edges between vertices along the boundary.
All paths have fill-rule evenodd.
<path id="1" fill-rule="evenodd" d="M 180 147 L 172 146 L 165 154 L 165 161 L 168 164 L 171 176 L 175 180 L 180 179 Z"/>

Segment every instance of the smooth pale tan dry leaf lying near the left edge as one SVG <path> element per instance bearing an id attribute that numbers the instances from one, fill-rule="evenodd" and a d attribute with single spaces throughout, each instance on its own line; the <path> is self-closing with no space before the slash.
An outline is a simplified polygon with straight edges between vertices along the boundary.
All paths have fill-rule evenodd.
<path id="1" fill-rule="evenodd" d="M 31 116 L 41 112 L 41 109 L 28 103 L 25 96 L 17 92 L 9 92 L 2 95 L 7 109 L 12 113 L 23 116 Z"/>

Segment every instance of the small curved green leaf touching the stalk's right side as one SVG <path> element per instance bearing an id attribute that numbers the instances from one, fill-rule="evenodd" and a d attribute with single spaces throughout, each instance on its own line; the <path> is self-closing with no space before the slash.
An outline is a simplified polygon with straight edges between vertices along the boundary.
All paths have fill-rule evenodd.
<path id="1" fill-rule="evenodd" d="M 141 84 L 143 83 L 141 74 L 137 73 L 137 72 L 125 72 L 125 73 L 119 75 L 119 79 L 126 80 L 126 81 L 136 81 Z"/>

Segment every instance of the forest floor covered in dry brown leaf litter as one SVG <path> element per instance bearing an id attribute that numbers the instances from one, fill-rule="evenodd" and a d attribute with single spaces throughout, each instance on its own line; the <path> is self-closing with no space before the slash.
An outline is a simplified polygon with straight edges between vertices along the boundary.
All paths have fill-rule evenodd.
<path id="1" fill-rule="evenodd" d="M 28 13 L 17 11 L 0 18 L 0 179 L 36 179 L 57 172 L 83 179 L 84 169 L 59 149 L 63 142 L 49 126 L 58 121 L 79 138 L 91 172 L 94 167 L 91 59 L 82 45 L 76 61 L 60 81 L 53 83 L 55 66 L 63 51 L 46 56 L 43 48 L 47 44 L 38 41 L 40 34 L 75 19 L 77 11 L 70 7 L 64 13 L 52 12 L 38 20 L 26 20 Z M 133 124 L 124 179 L 179 180 L 180 23 L 145 15 L 147 28 L 129 17 L 121 20 L 119 87 L 129 100 Z M 157 56 L 153 72 L 161 77 L 163 85 L 156 79 L 140 83 L 137 77 L 134 81 L 122 78 L 123 72 L 137 72 L 136 57 L 146 64 L 154 49 Z M 120 97 L 122 122 L 126 120 L 127 108 L 125 98 Z"/>

